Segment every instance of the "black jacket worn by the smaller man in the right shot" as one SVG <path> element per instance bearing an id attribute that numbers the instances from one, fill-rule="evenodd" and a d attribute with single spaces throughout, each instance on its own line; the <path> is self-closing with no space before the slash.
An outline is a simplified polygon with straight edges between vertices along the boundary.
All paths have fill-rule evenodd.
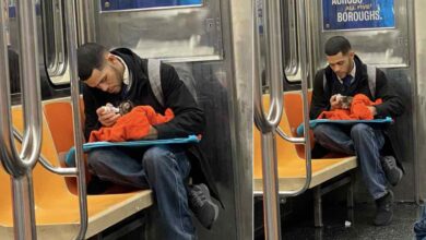
<path id="1" fill-rule="evenodd" d="M 372 96 L 368 86 L 367 65 L 364 64 L 357 56 L 355 56 L 354 61 L 356 64 L 355 81 L 347 89 L 343 87 L 343 84 L 340 83 L 336 74 L 330 67 L 317 72 L 313 81 L 312 100 L 309 112 L 310 119 L 317 119 L 322 111 L 330 110 L 330 98 L 334 94 L 342 94 L 344 96 L 364 94 L 372 101 L 377 98 L 381 98 L 383 103 L 376 106 L 376 118 L 384 118 L 388 116 L 395 118 L 403 113 L 404 106 L 402 105 L 401 98 L 394 93 L 393 88 L 389 86 L 388 79 L 384 73 L 380 69 L 376 70 L 376 94 Z M 323 84 L 324 73 L 327 79 L 326 87 Z M 381 154 L 383 156 L 392 155 L 398 159 L 398 154 L 393 151 L 394 147 L 392 147 L 393 144 L 387 130 L 384 130 L 383 133 L 386 141 L 384 146 L 381 149 Z M 316 147 L 313 148 L 313 152 L 318 151 Z M 312 153 L 312 155 L 317 154 Z M 402 167 L 400 163 L 399 166 Z"/>

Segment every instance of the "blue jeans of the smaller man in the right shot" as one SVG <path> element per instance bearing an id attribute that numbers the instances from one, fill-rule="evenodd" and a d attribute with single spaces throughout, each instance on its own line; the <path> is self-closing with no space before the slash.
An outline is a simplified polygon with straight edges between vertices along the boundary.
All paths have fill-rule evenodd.
<path id="1" fill-rule="evenodd" d="M 313 135 L 317 143 L 330 151 L 357 156 L 364 181 L 375 200 L 388 193 L 380 163 L 380 149 L 384 144 L 381 130 L 364 123 L 318 124 L 313 129 Z"/>

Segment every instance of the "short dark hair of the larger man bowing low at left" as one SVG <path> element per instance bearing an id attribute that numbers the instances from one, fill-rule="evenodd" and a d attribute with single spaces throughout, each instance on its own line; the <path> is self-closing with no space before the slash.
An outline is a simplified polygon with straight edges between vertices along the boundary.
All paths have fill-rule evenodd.
<path id="1" fill-rule="evenodd" d="M 100 70 L 104 65 L 104 56 L 108 50 L 95 43 L 87 43 L 76 49 L 79 62 L 79 77 L 86 81 L 92 75 L 94 69 Z"/>

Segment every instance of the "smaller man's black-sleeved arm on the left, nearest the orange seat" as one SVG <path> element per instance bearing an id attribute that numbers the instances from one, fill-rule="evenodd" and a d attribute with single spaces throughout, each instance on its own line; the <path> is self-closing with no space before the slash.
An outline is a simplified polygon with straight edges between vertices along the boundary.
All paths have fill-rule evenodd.
<path id="1" fill-rule="evenodd" d="M 330 109 L 330 97 L 324 92 L 323 74 L 326 70 L 318 71 L 313 80 L 312 100 L 310 103 L 310 119 L 317 119 L 322 111 Z M 327 95 L 327 96 L 326 96 Z"/>

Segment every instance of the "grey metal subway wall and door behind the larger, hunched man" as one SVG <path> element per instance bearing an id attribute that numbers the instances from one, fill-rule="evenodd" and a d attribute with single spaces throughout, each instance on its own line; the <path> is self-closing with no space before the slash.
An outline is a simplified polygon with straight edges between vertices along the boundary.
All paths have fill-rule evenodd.
<path id="1" fill-rule="evenodd" d="M 251 239 L 251 4 L 242 0 L 82 4 L 82 43 L 128 47 L 143 58 L 159 58 L 175 65 L 180 77 L 191 79 L 206 116 L 200 144 L 225 205 L 210 231 L 194 219 L 199 238 Z"/>

